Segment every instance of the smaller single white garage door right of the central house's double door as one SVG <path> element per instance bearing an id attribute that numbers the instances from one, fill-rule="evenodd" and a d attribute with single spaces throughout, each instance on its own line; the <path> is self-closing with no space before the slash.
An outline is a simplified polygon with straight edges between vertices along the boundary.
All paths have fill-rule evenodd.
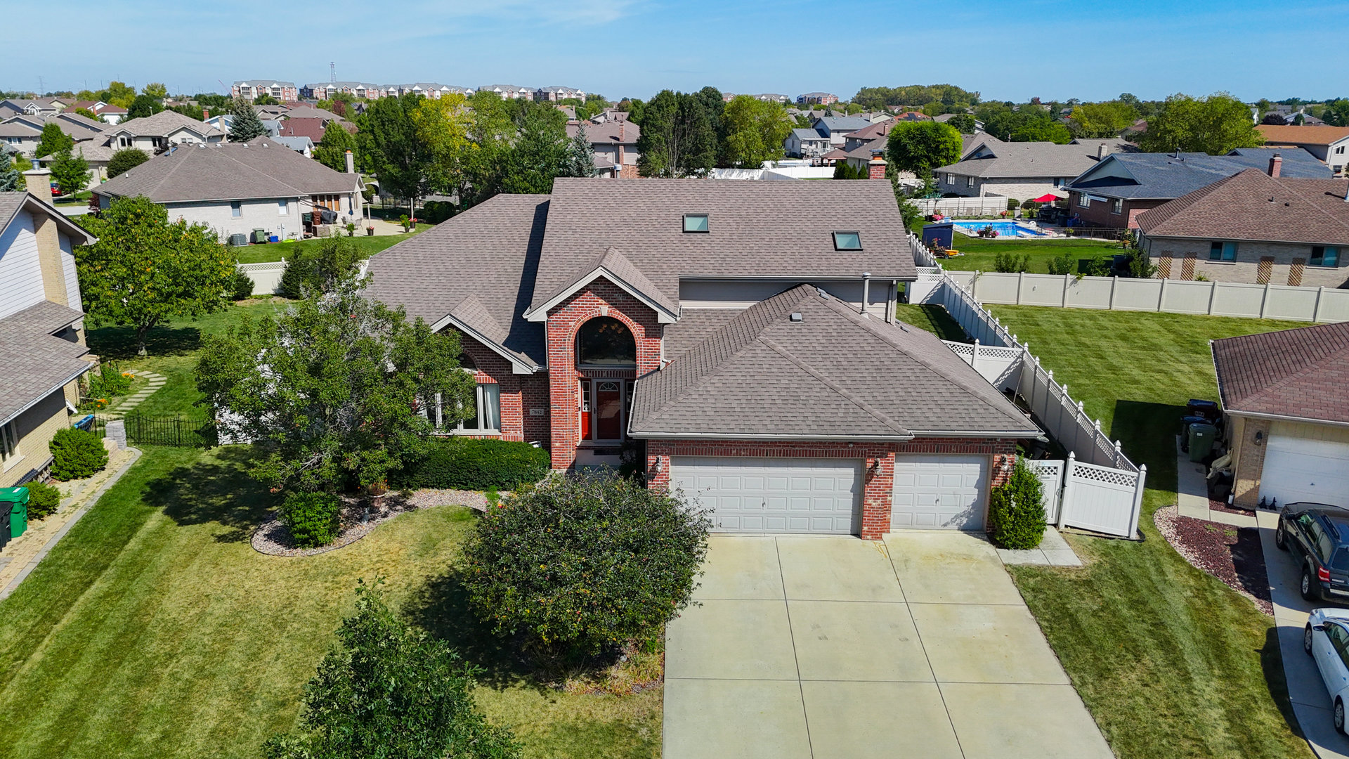
<path id="1" fill-rule="evenodd" d="M 890 529 L 983 529 L 989 456 L 896 456 Z"/>

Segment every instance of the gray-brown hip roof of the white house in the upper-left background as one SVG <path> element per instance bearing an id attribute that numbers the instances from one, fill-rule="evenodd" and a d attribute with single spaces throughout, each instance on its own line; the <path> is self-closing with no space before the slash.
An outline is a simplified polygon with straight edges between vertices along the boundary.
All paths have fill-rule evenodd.
<path id="1" fill-rule="evenodd" d="M 259 138 L 247 143 L 179 146 L 98 185 L 97 194 L 155 203 L 244 200 L 341 194 L 359 174 L 333 172 L 285 145 Z"/>

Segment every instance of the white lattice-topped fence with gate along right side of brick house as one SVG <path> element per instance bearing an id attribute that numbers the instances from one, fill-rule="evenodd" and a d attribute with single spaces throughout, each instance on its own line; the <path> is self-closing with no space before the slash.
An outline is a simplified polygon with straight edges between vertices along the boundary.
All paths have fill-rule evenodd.
<path id="1" fill-rule="evenodd" d="M 909 289 L 911 303 L 940 304 L 965 328 L 974 343 L 947 346 L 985 380 L 1004 393 L 1014 394 L 1036 423 L 1059 442 L 1068 459 L 1029 462 L 1044 488 L 1045 517 L 1059 527 L 1078 527 L 1133 538 L 1148 467 L 1135 466 L 1118 442 L 1101 431 L 1074 401 L 1068 386 L 1054 378 L 1023 343 L 994 319 L 983 305 L 932 258 L 931 251 L 909 235 L 919 281 Z"/>

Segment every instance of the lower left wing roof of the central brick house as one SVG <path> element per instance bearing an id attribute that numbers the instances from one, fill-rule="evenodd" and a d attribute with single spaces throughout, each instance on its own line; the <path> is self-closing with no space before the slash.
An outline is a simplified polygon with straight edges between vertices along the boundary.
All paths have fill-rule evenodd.
<path id="1" fill-rule="evenodd" d="M 371 257 L 366 294 L 429 324 L 453 315 L 542 366 L 544 325 L 521 315 L 534 292 L 548 207 L 546 194 L 498 194 Z"/>

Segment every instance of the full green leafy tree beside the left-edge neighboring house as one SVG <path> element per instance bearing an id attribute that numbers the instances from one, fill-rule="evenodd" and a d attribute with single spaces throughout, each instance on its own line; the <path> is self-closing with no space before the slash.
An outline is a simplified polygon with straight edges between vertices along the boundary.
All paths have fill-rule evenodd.
<path id="1" fill-rule="evenodd" d="M 85 311 L 94 324 L 132 327 L 138 354 L 152 327 L 228 304 L 235 261 L 205 224 L 170 221 L 146 197 L 117 199 L 82 223 L 98 238 L 76 248 Z"/>

